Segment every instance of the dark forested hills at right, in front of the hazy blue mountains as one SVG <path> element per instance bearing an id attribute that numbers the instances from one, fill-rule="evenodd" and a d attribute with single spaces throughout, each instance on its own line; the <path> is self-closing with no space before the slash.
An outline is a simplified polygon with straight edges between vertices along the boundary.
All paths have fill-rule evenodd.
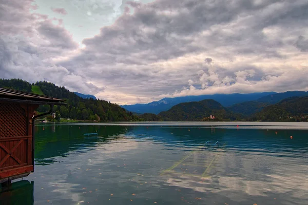
<path id="1" fill-rule="evenodd" d="M 231 109 L 245 105 L 242 110 Z M 211 115 L 215 118 L 210 118 Z M 180 103 L 157 116 L 163 121 L 307 121 L 308 96 L 285 98 L 274 105 L 250 101 L 227 108 L 218 101 L 205 99 Z"/>

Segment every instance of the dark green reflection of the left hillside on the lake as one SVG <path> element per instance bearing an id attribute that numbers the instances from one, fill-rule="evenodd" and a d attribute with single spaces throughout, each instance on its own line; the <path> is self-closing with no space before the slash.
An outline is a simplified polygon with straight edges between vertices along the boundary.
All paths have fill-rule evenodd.
<path id="1" fill-rule="evenodd" d="M 35 164 L 49 165 L 72 151 L 84 151 L 98 144 L 121 138 L 131 128 L 123 126 L 84 126 L 46 124 L 35 126 Z M 85 133 L 98 133 L 99 137 L 84 137 Z"/>

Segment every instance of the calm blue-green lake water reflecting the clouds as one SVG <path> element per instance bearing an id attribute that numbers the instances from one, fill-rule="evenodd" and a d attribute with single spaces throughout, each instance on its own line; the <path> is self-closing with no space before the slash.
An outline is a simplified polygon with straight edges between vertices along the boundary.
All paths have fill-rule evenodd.
<path id="1" fill-rule="evenodd" d="M 0 204 L 308 201 L 304 122 L 37 124 L 35 133 L 35 172 Z M 205 149 L 208 140 L 221 146 Z"/>

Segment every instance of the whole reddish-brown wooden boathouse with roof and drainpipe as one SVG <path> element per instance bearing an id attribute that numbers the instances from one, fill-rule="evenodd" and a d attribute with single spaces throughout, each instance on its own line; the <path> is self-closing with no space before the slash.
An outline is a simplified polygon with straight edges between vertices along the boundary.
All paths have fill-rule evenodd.
<path id="1" fill-rule="evenodd" d="M 34 119 L 52 112 L 63 99 L 0 88 L 0 183 L 34 172 Z M 40 105 L 50 105 L 47 113 L 34 115 Z"/>

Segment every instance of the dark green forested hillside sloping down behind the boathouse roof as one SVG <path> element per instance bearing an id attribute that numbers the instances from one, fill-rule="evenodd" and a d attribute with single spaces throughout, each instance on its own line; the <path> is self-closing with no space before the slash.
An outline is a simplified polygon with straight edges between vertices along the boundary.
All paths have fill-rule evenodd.
<path id="1" fill-rule="evenodd" d="M 124 108 L 105 100 L 83 99 L 65 87 L 58 87 L 47 81 L 30 84 L 21 79 L 0 79 L 0 87 L 31 92 L 32 86 L 45 95 L 65 99 L 66 106 L 54 106 L 56 118 L 100 121 L 139 121 L 139 117 Z M 40 106 L 38 112 L 46 112 L 49 106 Z"/>

